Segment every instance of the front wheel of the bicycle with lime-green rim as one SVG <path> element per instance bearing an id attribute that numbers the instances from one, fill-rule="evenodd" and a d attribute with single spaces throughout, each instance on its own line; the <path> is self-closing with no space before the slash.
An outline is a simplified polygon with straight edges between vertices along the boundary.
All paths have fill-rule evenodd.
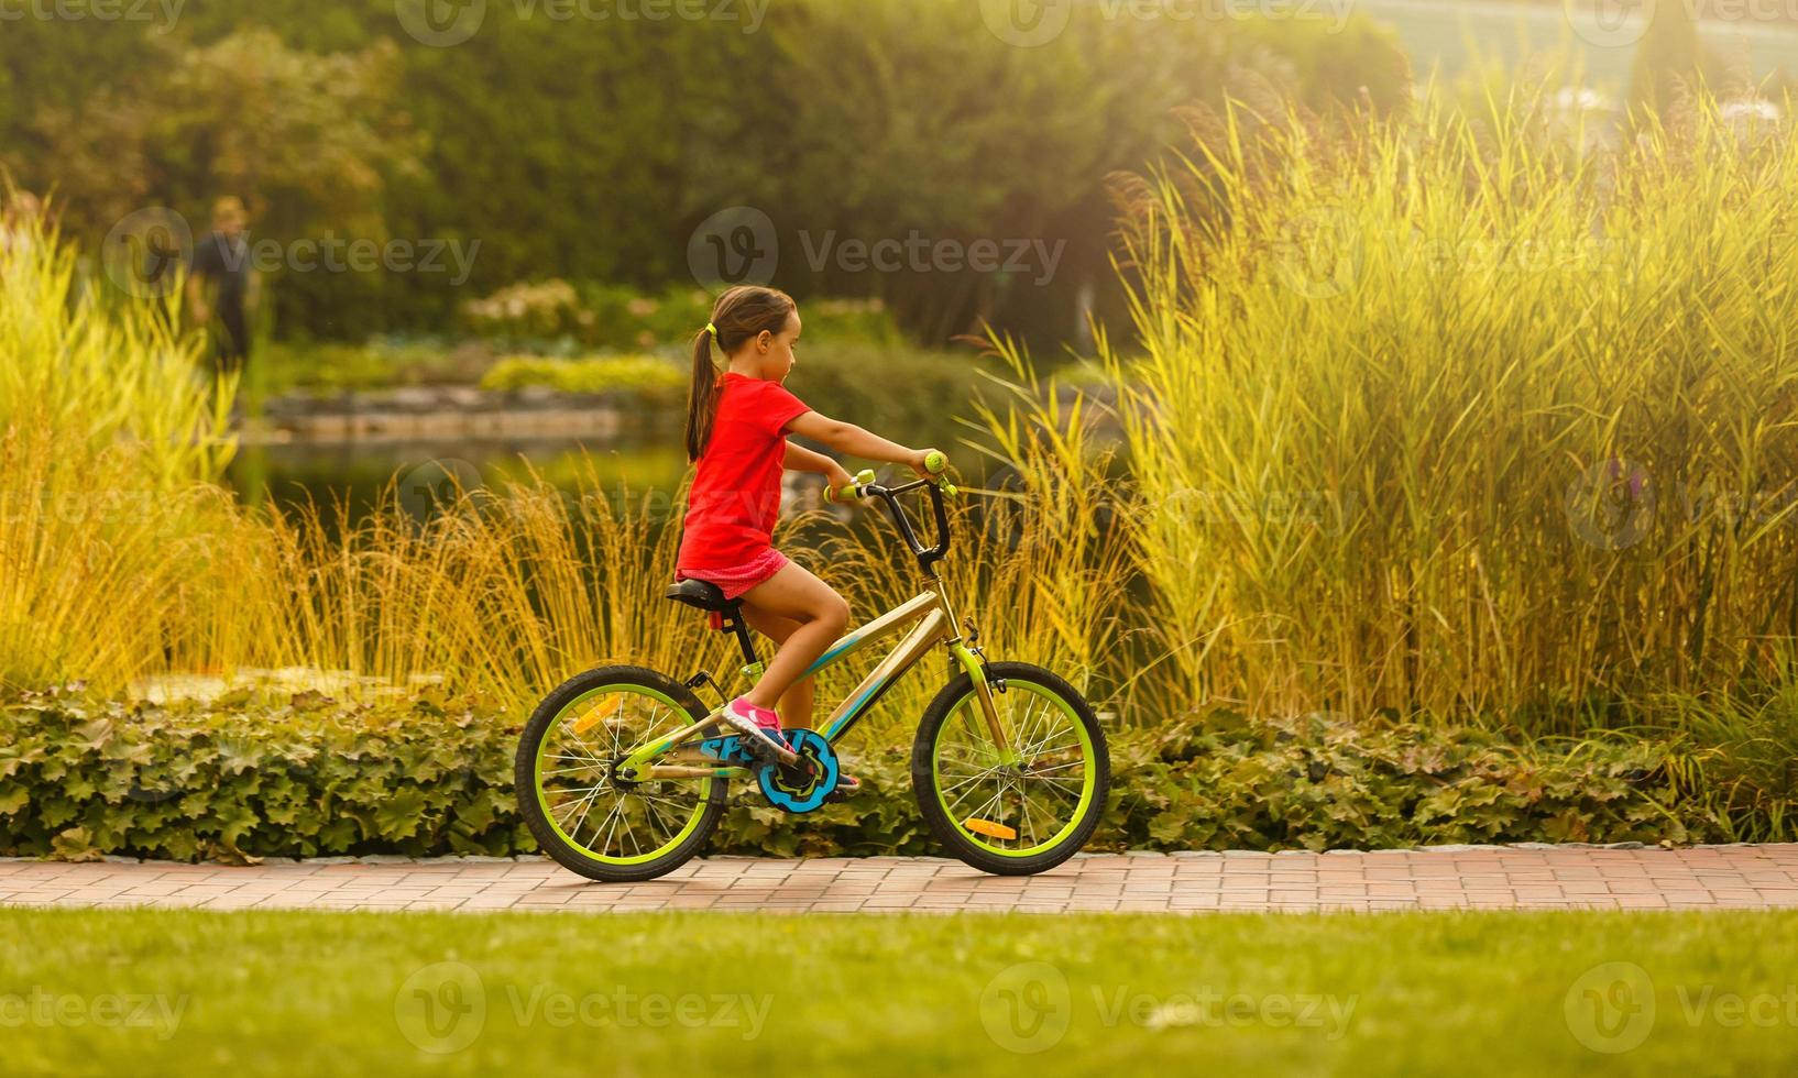
<path id="1" fill-rule="evenodd" d="M 955 857 L 996 875 L 1034 875 L 1093 837 L 1111 787 L 1106 735 L 1091 704 L 1028 663 L 992 663 L 1001 751 L 964 672 L 924 710 L 912 789 Z"/>

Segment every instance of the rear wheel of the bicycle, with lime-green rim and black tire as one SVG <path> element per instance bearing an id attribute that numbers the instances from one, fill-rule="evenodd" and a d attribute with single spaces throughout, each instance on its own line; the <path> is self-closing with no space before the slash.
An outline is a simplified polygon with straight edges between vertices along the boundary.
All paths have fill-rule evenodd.
<path id="1" fill-rule="evenodd" d="M 518 744 L 518 810 L 563 868 L 642 882 L 698 853 L 725 812 L 723 778 L 620 782 L 636 749 L 707 717 L 685 685 L 642 667 L 602 667 L 538 704 Z"/>

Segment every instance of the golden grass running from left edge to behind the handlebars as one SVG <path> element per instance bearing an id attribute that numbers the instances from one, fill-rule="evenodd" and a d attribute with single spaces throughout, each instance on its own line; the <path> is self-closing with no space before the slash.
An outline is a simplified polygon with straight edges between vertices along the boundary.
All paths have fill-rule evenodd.
<path id="1" fill-rule="evenodd" d="M 680 537 L 672 492 L 608 487 L 588 465 L 563 487 L 532 474 L 460 492 L 415 473 L 354 523 L 324 519 L 331 505 L 245 507 L 218 483 L 234 386 L 205 376 L 198 340 L 171 329 L 173 300 L 85 282 L 50 235 L 0 253 L 0 685 L 119 692 L 284 670 L 333 692 L 444 683 L 516 710 L 602 661 L 735 685 L 728 640 L 662 598 Z M 962 613 L 996 654 L 1115 683 L 1120 611 L 1086 605 L 1131 573 L 1095 526 L 1091 473 L 1106 455 L 1088 424 L 1034 404 L 1034 386 L 994 384 L 992 397 L 985 442 L 1016 460 L 1019 501 L 957 507 L 946 571 Z M 820 537 L 798 559 L 861 618 L 921 588 L 890 525 L 807 516 L 786 528 L 789 548 Z M 876 658 L 832 672 L 825 695 L 847 694 Z M 913 719 L 949 674 L 931 663 L 883 715 Z"/>

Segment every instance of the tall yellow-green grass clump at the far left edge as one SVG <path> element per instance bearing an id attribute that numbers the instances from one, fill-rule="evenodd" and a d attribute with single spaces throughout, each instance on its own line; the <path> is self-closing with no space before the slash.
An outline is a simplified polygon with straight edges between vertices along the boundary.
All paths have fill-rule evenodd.
<path id="1" fill-rule="evenodd" d="M 239 586 L 214 571 L 228 386 L 169 307 L 104 300 L 36 223 L 0 243 L 0 683 L 162 668 Z"/>

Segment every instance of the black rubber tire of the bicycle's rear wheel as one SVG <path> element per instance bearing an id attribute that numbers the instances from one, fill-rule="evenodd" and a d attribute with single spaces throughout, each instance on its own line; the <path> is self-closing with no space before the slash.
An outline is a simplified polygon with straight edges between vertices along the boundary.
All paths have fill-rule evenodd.
<path id="1" fill-rule="evenodd" d="M 525 817 L 525 825 L 530 826 L 530 834 L 538 839 L 538 848 L 556 859 L 556 862 L 568 871 L 579 873 L 590 880 L 608 884 L 638 884 L 674 871 L 690 861 L 707 841 L 710 841 L 712 832 L 717 830 L 717 823 L 725 814 L 728 782 L 723 778 L 692 780 L 710 783 L 710 794 L 696 800 L 699 817 L 698 825 L 694 825 L 687 837 L 676 846 L 651 861 L 635 864 L 608 862 L 584 846 L 572 843 L 556 825 L 552 825 L 545 812 L 543 800 L 538 796 L 538 756 L 543 751 L 545 737 L 550 733 L 550 724 L 554 724 L 557 717 L 561 717 L 583 695 L 608 686 L 649 690 L 672 702 L 680 708 L 680 715 L 671 713 L 671 719 L 678 720 L 685 715 L 685 722 L 676 722 L 672 728 L 685 726 L 687 722 L 698 722 L 710 713 L 705 704 L 699 702 L 699 697 L 692 695 L 690 688 L 674 681 L 667 674 L 658 674 L 656 670 L 647 670 L 644 667 L 601 667 L 597 670 L 588 670 L 586 674 L 577 674 L 561 683 L 556 692 L 543 697 L 538 710 L 530 713 L 530 720 L 525 722 L 525 731 L 518 740 L 512 780 L 518 791 L 518 812 Z M 575 832 L 579 834 L 579 826 Z"/>

